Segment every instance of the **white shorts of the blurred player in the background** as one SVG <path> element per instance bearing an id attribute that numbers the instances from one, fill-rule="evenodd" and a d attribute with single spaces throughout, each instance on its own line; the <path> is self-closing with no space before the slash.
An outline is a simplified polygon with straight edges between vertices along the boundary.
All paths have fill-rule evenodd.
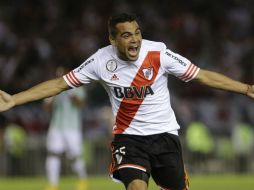
<path id="1" fill-rule="evenodd" d="M 67 153 L 69 158 L 82 153 L 82 134 L 78 130 L 50 129 L 47 135 L 47 150 L 55 154 Z"/>

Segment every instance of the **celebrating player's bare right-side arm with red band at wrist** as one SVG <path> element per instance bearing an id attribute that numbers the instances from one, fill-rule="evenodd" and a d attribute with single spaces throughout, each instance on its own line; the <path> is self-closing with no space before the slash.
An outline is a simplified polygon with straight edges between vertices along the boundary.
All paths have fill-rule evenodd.
<path id="1" fill-rule="evenodd" d="M 213 88 L 237 92 L 254 98 L 254 85 L 233 80 L 216 72 L 200 69 L 195 80 Z"/>

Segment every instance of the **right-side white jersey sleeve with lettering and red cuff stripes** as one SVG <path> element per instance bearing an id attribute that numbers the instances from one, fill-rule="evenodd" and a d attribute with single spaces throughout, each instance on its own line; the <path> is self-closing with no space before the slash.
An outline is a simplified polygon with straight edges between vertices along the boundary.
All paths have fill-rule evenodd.
<path id="1" fill-rule="evenodd" d="M 165 49 L 161 51 L 160 61 L 163 69 L 184 82 L 191 81 L 196 77 L 200 68 L 192 64 L 185 57 Z"/>

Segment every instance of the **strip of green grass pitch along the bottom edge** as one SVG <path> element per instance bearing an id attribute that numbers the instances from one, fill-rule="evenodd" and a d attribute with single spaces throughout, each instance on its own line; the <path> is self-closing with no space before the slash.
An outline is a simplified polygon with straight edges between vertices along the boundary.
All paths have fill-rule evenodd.
<path id="1" fill-rule="evenodd" d="M 75 190 L 75 179 L 63 177 L 60 190 Z M 253 190 L 254 175 L 202 175 L 190 176 L 191 190 Z M 44 190 L 45 178 L 0 178 L 0 190 Z M 105 176 L 89 177 L 89 190 L 124 190 L 120 183 L 114 183 Z M 149 190 L 158 190 L 150 181 Z"/>

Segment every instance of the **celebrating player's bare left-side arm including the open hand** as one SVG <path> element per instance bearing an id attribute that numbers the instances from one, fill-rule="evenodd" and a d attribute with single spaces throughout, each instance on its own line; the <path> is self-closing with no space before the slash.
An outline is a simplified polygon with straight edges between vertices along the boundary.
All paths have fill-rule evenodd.
<path id="1" fill-rule="evenodd" d="M 11 109 L 14 106 L 55 96 L 64 90 L 69 89 L 63 77 L 40 83 L 28 90 L 9 95 L 0 91 L 0 112 Z"/>

